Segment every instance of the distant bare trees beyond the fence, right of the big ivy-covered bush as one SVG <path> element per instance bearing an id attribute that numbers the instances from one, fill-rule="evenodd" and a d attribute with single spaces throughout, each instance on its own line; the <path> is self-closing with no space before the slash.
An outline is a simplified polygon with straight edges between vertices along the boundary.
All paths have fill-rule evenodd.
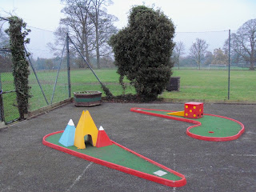
<path id="1" fill-rule="evenodd" d="M 228 65 L 229 39 L 222 48 L 210 52 L 205 40 L 197 38 L 186 54 L 185 44 L 176 42 L 172 60 L 174 66 Z M 230 35 L 230 65 L 255 69 L 256 63 L 256 19 L 250 19 L 239 27 L 236 33 Z"/>

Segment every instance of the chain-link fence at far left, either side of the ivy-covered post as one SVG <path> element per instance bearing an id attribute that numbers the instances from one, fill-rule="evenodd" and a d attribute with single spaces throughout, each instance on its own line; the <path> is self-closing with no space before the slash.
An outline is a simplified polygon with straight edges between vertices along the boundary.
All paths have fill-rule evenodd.
<path id="1" fill-rule="evenodd" d="M 9 23 L 1 21 L 1 47 L 0 47 L 0 120 L 6 123 L 19 118 L 18 105 L 14 77 L 12 74 L 12 62 L 9 46 L 9 38 L 5 30 Z M 30 44 L 26 50 L 30 53 L 29 86 L 29 111 L 37 110 L 42 106 L 48 106 L 69 98 L 67 89 L 66 58 L 51 53 L 49 42 L 54 41 L 54 33 L 30 27 Z"/>

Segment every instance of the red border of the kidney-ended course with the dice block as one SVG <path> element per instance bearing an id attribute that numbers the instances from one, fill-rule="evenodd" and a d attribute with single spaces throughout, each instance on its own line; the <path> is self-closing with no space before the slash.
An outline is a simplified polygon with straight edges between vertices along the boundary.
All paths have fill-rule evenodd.
<path id="1" fill-rule="evenodd" d="M 210 142 L 227 142 L 227 141 L 232 141 L 232 140 L 235 140 L 235 139 L 239 138 L 242 135 L 242 133 L 245 131 L 245 127 L 242 124 L 242 122 L 238 122 L 237 120 L 235 120 L 233 118 L 226 118 L 226 117 L 215 115 L 215 114 L 204 114 L 204 115 L 210 115 L 210 116 L 214 116 L 214 117 L 218 117 L 218 118 L 229 119 L 230 121 L 237 122 L 242 127 L 242 129 L 238 132 L 238 134 L 235 134 L 235 135 L 230 136 L 230 137 L 223 137 L 223 138 L 206 137 L 206 136 L 202 136 L 202 135 L 198 135 L 198 134 L 192 134 L 190 132 L 190 129 L 192 129 L 193 127 L 201 126 L 202 125 L 201 122 L 198 122 L 198 121 L 195 121 L 195 120 L 192 120 L 192 119 L 189 119 L 189 118 L 178 118 L 178 117 L 165 115 L 165 114 L 154 114 L 154 113 L 150 113 L 148 111 L 143 111 L 143 110 L 154 110 L 154 109 L 145 109 L 145 108 L 137 108 L 137 107 L 134 107 L 134 108 L 130 109 L 130 111 L 135 112 L 135 113 L 139 113 L 139 114 L 149 114 L 149 115 L 153 115 L 153 116 L 156 116 L 156 117 L 159 117 L 159 118 L 170 118 L 170 119 L 178 120 L 178 121 L 181 121 L 181 122 L 193 123 L 195 125 L 194 126 L 189 126 L 186 129 L 186 134 L 189 135 L 191 138 L 197 138 L 197 139 L 200 139 L 200 140 L 205 140 L 205 141 L 210 141 Z M 175 112 L 175 111 L 172 111 L 172 110 L 157 110 L 157 111 Z"/>

